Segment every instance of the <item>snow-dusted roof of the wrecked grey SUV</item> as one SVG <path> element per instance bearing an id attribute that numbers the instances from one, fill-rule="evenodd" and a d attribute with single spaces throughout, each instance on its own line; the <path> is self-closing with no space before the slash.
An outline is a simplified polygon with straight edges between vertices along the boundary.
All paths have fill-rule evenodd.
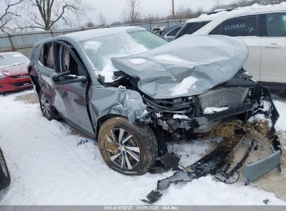
<path id="1" fill-rule="evenodd" d="M 95 28 L 86 31 L 79 31 L 75 33 L 70 33 L 66 35 L 61 35 L 59 37 L 70 37 L 77 42 L 84 40 L 90 40 L 95 37 L 102 37 L 106 35 L 112 35 L 115 33 L 127 33 L 127 31 L 141 31 L 145 28 L 136 27 L 136 26 L 120 26 L 120 27 L 111 27 L 111 28 Z"/>

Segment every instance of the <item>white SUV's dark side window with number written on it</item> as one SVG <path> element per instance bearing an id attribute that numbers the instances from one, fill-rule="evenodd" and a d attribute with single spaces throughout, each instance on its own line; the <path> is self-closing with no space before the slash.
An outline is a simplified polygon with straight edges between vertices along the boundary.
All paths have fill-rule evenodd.
<path id="1" fill-rule="evenodd" d="M 210 35 L 227 35 L 230 37 L 256 36 L 258 15 L 248 15 L 227 19 L 216 26 Z"/>

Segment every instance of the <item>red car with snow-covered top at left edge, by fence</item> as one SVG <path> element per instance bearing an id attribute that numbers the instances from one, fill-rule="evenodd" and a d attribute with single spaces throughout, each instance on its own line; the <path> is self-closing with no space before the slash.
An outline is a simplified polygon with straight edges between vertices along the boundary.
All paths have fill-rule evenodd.
<path id="1" fill-rule="evenodd" d="M 33 87 L 28 64 L 29 58 L 22 53 L 0 53 L 0 93 Z"/>

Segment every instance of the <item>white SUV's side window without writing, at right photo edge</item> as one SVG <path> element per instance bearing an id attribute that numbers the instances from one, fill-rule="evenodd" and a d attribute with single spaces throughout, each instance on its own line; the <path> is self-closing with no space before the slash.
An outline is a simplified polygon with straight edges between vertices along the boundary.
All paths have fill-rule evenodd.
<path id="1" fill-rule="evenodd" d="M 262 19 L 262 36 L 286 37 L 286 12 L 264 15 Z"/>

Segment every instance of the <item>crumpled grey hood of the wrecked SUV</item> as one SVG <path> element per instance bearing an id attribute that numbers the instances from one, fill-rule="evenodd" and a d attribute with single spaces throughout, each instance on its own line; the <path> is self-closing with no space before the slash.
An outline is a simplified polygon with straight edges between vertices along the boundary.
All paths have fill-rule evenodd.
<path id="1" fill-rule="evenodd" d="M 248 58 L 243 41 L 223 35 L 184 35 L 113 66 L 139 78 L 138 89 L 154 99 L 201 94 L 230 81 Z"/>

